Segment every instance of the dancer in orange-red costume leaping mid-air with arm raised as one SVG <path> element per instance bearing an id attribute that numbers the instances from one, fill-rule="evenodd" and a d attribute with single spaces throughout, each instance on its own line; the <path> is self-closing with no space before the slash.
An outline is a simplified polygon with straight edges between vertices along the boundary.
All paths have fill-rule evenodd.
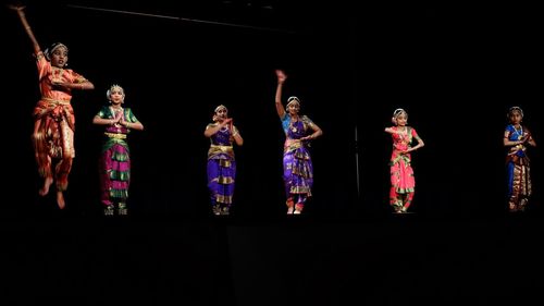
<path id="1" fill-rule="evenodd" d="M 75 157 L 75 117 L 72 108 L 72 90 L 94 89 L 95 85 L 83 75 L 67 68 L 69 49 L 61 42 L 41 51 L 38 40 L 28 24 L 23 5 L 9 5 L 17 12 L 26 34 L 30 38 L 38 68 L 41 98 L 34 108 L 33 145 L 38 172 L 44 185 L 38 191 L 46 196 L 54 182 L 57 205 L 65 207 L 63 192 L 69 184 L 69 174 Z"/>

